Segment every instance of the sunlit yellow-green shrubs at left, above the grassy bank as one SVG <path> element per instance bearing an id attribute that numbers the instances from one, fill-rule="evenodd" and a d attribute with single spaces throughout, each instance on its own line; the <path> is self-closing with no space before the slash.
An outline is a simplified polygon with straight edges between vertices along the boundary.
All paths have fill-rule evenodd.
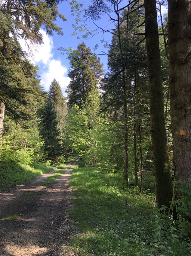
<path id="1" fill-rule="evenodd" d="M 31 121 L 14 122 L 6 116 L 4 136 L 1 142 L 1 160 L 21 164 L 43 161 L 44 141 L 39 134 L 39 118 L 33 115 Z"/>

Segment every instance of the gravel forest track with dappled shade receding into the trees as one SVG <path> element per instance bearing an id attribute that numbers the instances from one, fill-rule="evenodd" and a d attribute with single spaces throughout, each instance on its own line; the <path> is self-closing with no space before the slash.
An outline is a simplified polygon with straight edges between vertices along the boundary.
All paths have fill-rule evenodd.
<path id="1" fill-rule="evenodd" d="M 1 255 L 64 255 L 65 241 L 74 230 L 68 186 L 78 160 L 47 186 L 38 184 L 59 169 L 1 193 Z"/>

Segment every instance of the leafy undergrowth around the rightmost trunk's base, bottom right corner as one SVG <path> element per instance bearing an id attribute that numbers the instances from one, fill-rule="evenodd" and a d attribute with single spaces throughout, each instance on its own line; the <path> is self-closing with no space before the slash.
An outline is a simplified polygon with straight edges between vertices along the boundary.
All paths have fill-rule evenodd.
<path id="1" fill-rule="evenodd" d="M 152 215 L 152 225 L 154 226 L 153 237 L 162 250 L 165 246 L 169 250 L 169 255 L 189 255 L 190 244 L 190 184 L 183 181 L 175 181 L 174 190 L 180 193 L 179 199 L 172 201 L 170 209 L 175 207 L 177 219 L 167 214 L 172 212 L 166 206 L 156 209 Z M 175 192 L 174 191 L 174 192 Z M 175 245 L 179 246 L 175 246 Z M 176 248 L 177 254 L 173 253 Z"/>

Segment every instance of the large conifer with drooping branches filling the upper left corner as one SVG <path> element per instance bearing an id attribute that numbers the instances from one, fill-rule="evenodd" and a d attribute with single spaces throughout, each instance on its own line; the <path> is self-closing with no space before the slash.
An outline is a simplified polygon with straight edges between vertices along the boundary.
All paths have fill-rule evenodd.
<path id="1" fill-rule="evenodd" d="M 0 55 L 3 66 L 1 70 L 0 138 L 2 138 L 5 109 L 14 114 L 15 118 L 23 118 L 23 112 L 18 111 L 20 106 L 15 107 L 14 103 L 26 105 L 27 94 L 35 92 L 31 90 L 31 85 L 35 83 L 28 82 L 28 78 L 31 77 L 28 73 L 32 70 L 32 65 L 26 61 L 26 54 L 21 49 L 18 40 L 29 39 L 31 44 L 41 44 L 43 42 L 40 33 L 42 25 L 50 35 L 53 31 L 63 34 L 62 29 L 54 23 L 57 16 L 63 21 L 66 20 L 58 11 L 60 2 L 62 1 L 7 0 L 0 3 Z"/>

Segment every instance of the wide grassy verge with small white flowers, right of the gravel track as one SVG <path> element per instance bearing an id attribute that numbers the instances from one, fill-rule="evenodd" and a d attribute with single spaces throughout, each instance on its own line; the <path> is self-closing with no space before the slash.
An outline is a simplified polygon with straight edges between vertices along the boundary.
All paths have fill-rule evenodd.
<path id="1" fill-rule="evenodd" d="M 150 217 L 153 195 L 140 196 L 138 188 L 123 190 L 121 184 L 122 173 L 90 167 L 73 170 L 71 218 L 79 234 L 69 251 L 76 255 L 189 255 L 185 244 L 174 240 L 170 246 L 157 241 L 159 230 L 156 232 Z"/>

